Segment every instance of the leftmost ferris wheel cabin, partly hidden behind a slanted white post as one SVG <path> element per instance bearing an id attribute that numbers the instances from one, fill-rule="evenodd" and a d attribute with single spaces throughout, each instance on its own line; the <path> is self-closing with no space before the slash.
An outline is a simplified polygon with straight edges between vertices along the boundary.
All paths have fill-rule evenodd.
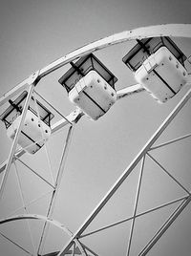
<path id="1" fill-rule="evenodd" d="M 0 116 L 0 119 L 5 123 L 7 135 L 10 139 L 14 139 L 18 126 L 21 120 L 22 110 L 28 93 L 24 91 L 14 101 L 9 100 L 10 107 Z M 32 97 L 24 125 L 18 139 L 18 144 L 28 153 L 34 154 L 37 152 L 51 136 L 51 120 L 53 114 Z"/>

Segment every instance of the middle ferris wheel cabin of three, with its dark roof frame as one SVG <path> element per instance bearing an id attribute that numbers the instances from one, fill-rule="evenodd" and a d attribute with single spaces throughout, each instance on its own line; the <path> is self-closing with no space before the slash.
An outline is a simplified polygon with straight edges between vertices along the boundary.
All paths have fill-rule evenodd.
<path id="1" fill-rule="evenodd" d="M 96 120 L 117 100 L 117 77 L 93 53 L 71 62 L 71 65 L 58 81 L 67 90 L 71 102 Z"/>

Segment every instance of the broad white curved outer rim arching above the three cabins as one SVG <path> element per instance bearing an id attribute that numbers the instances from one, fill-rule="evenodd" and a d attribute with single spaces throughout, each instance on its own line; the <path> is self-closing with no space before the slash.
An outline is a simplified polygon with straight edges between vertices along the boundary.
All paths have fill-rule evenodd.
<path id="1" fill-rule="evenodd" d="M 166 24 L 150 27 L 142 27 L 127 32 L 119 32 L 103 39 L 97 40 L 84 47 L 75 50 L 72 53 L 68 53 L 65 56 L 53 61 L 50 65 L 42 68 L 36 72 L 36 79 L 41 79 L 43 76 L 52 73 L 60 67 L 74 61 L 76 58 L 81 57 L 88 53 L 94 53 L 103 48 L 110 47 L 112 45 L 120 44 L 130 40 L 155 37 L 155 36 L 178 36 L 178 37 L 191 37 L 191 24 Z M 15 96 L 19 92 L 26 88 L 26 84 L 31 81 L 31 76 L 25 81 L 19 83 L 10 92 L 0 98 L 0 106 L 7 102 L 12 96 Z"/>

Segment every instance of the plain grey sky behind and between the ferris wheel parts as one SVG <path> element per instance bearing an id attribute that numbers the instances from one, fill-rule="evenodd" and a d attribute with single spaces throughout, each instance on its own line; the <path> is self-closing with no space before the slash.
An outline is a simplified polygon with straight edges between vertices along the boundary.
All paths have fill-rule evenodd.
<path id="1" fill-rule="evenodd" d="M 54 59 L 99 38 L 143 26 L 191 23 L 191 2 L 188 0 L 1 0 L 0 3 L 1 95 Z M 190 39 L 174 38 L 174 41 L 183 53 L 191 55 Z M 129 42 L 95 53 L 117 76 L 117 90 L 135 83 L 133 75 L 121 60 L 134 45 L 135 42 Z M 190 70 L 188 63 L 186 66 Z M 58 83 L 59 77 L 68 68 L 64 67 L 48 75 L 37 88 L 63 115 L 74 110 L 64 88 Z M 74 129 L 53 218 L 74 232 L 187 90 L 188 87 L 183 88 L 178 96 L 163 105 L 159 105 L 146 93 L 141 93 L 117 102 L 105 117 L 97 121 L 82 118 Z M 188 102 L 160 141 L 190 133 L 190 109 L 191 103 Z M 0 160 L 3 161 L 8 157 L 11 142 L 7 139 L 2 122 L 0 128 Z M 67 128 L 64 128 L 63 132 L 53 135 L 53 139 L 47 143 L 54 175 L 66 134 Z M 190 140 L 186 140 L 153 153 L 188 190 L 191 188 L 190 151 Z M 44 149 L 35 156 L 24 156 L 23 160 L 51 181 Z M 146 163 L 138 212 L 184 195 L 184 191 L 166 177 L 152 160 L 148 159 Z M 49 192 L 50 188 L 33 177 L 22 164 L 18 163 L 17 169 L 26 202 Z M 88 228 L 89 231 L 132 215 L 138 172 L 139 168 L 123 183 L 115 197 Z M 31 204 L 27 210 L 46 215 L 49 201 L 50 195 Z M 12 166 L 5 197 L 0 203 L 0 218 L 11 215 L 21 204 L 15 168 Z M 138 255 L 177 205 L 138 219 L 131 255 Z M 190 209 L 188 205 L 149 255 L 190 255 Z M 18 213 L 23 213 L 23 210 L 15 212 Z M 37 246 L 42 223 L 32 221 L 30 225 L 34 245 Z M 121 224 L 84 238 L 82 242 L 93 248 L 98 255 L 126 255 L 129 229 L 130 223 Z M 0 226 L 0 231 L 32 251 L 26 222 L 4 224 Z M 66 241 L 67 237 L 62 237 L 59 230 L 51 227 L 44 253 L 59 250 Z M 28 254 L 0 236 L 0 255 Z"/>

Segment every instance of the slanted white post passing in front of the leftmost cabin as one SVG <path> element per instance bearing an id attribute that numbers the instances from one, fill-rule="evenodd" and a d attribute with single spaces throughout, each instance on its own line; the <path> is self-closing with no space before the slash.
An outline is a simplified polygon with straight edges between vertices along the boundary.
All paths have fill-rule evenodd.
<path id="1" fill-rule="evenodd" d="M 24 120 L 25 120 L 25 117 L 26 117 L 26 114 L 27 114 L 27 110 L 28 110 L 28 107 L 30 105 L 30 100 L 31 100 L 31 97 L 32 97 L 33 89 L 34 89 L 34 84 L 32 83 L 30 85 L 30 88 L 29 88 L 29 92 L 28 92 L 28 96 L 27 96 L 27 99 L 26 99 L 26 102 L 25 102 L 25 105 L 24 105 L 24 109 L 23 109 L 23 112 L 22 112 L 21 120 L 20 120 L 18 129 L 16 131 L 16 135 L 15 135 L 15 137 L 13 139 L 13 142 L 12 142 L 12 145 L 11 145 L 10 155 L 9 155 L 9 158 L 8 158 L 6 169 L 4 171 L 3 179 L 1 181 L 1 185 L 0 185 L 0 201 L 2 200 L 2 197 L 3 197 L 3 192 L 4 192 L 4 189 L 5 189 L 6 181 L 8 180 L 8 176 L 9 176 L 10 169 L 11 169 L 12 159 L 13 159 L 13 156 L 14 156 L 14 152 L 16 150 L 17 142 L 18 142 L 18 139 L 19 139 L 19 136 L 20 136 L 20 133 L 21 133 L 21 129 L 23 127 L 23 123 L 24 123 Z"/>

